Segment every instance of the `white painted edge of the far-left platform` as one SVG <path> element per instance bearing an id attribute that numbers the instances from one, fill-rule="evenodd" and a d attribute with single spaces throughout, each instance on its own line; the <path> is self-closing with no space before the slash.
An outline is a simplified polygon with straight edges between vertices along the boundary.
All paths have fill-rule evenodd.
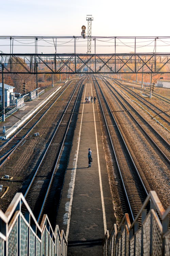
<path id="1" fill-rule="evenodd" d="M 6 135 L 6 139 L 7 139 L 12 133 L 14 133 L 14 131 L 16 131 L 24 122 L 26 122 L 26 120 L 29 119 L 42 105 L 44 105 L 44 104 L 46 103 L 46 101 L 49 100 L 58 90 L 60 90 L 60 88 L 61 88 L 61 86 L 59 86 L 52 94 L 50 94 L 50 96 L 49 96 L 48 98 L 46 98 L 45 101 L 43 101 L 41 104 L 39 104 L 36 109 L 34 109 L 33 111 L 31 111 L 30 114 L 28 113 L 28 114 L 29 114 L 29 115 L 27 114 L 28 116 L 25 115 L 25 116 L 22 118 L 23 120 L 21 120 L 21 121 L 19 121 L 19 122 L 17 123 L 17 126 L 15 126 L 15 125 L 16 125 L 16 124 L 15 124 L 15 125 L 13 126 L 14 128 L 11 127 L 11 128 L 13 128 L 13 129 Z M 11 128 L 10 128 L 10 129 L 11 129 Z M 10 129 L 8 129 L 8 130 L 10 130 Z M 8 130 L 7 130 L 7 131 L 8 131 Z M 6 131 L 6 132 L 7 132 L 7 131 Z"/>

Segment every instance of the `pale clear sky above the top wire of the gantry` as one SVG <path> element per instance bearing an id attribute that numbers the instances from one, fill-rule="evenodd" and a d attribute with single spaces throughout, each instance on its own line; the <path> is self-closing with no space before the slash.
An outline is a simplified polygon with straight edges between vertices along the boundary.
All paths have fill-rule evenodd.
<path id="1" fill-rule="evenodd" d="M 169 0 L 1 0 L 0 35 L 169 36 Z"/>

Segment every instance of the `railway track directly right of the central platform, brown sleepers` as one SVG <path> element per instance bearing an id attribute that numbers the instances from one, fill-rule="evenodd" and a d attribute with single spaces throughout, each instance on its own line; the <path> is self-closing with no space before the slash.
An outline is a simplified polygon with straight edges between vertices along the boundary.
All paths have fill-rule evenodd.
<path id="1" fill-rule="evenodd" d="M 121 127 L 119 128 L 118 120 L 115 114 L 112 113 L 103 90 L 95 79 L 94 84 L 112 145 L 112 151 L 116 159 L 116 165 L 121 180 L 121 189 L 124 191 L 123 196 L 126 198 L 127 208 L 123 209 L 123 211 L 131 213 L 130 218 L 134 219 L 145 201 L 150 187 L 132 150 L 128 146 L 128 141 L 123 138 L 123 131 Z M 120 187 L 120 184 L 118 184 L 118 186 Z"/>

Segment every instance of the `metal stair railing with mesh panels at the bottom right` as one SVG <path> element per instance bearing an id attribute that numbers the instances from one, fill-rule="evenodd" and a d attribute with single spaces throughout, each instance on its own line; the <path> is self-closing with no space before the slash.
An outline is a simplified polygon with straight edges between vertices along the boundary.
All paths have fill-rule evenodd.
<path id="1" fill-rule="evenodd" d="M 150 211 L 147 214 L 146 208 L 149 202 Z M 159 214 L 162 223 L 160 222 L 157 213 Z M 170 207 L 165 211 L 156 192 L 150 191 L 132 224 L 129 219 L 129 214 L 126 213 L 118 230 L 117 225 L 114 224 L 109 236 L 108 232 L 106 232 L 103 240 L 103 256 L 116 256 L 116 251 L 120 252 L 120 250 L 126 251 L 124 255 L 130 255 L 130 252 L 132 251 L 134 252 L 134 255 L 137 252 L 138 254 L 141 252 L 140 255 L 145 255 L 143 250 L 150 252 L 149 255 L 169 255 L 169 213 Z M 138 219 L 141 215 L 142 225 L 139 227 Z M 146 242 L 146 238 L 148 242 Z M 123 248 L 121 248 L 120 242 L 121 245 L 124 245 Z"/>

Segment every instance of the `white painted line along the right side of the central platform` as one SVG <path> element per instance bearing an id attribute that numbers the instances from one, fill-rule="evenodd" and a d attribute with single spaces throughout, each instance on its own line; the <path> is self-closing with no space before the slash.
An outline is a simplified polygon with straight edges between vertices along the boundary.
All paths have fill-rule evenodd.
<path id="1" fill-rule="evenodd" d="M 91 95 L 92 95 L 92 87 L 91 87 Z M 106 231 L 107 231 L 106 213 L 105 213 L 105 206 L 104 206 L 103 187 L 102 187 L 102 177 L 101 177 L 100 161 L 99 161 L 99 150 L 98 150 L 98 140 L 97 140 L 97 130 L 96 130 L 96 119 L 95 119 L 94 103 L 93 103 L 92 105 L 93 105 L 93 115 L 94 115 L 94 124 L 95 124 L 96 148 L 97 148 L 97 161 L 98 161 L 98 169 L 99 169 L 100 194 L 101 194 L 101 200 L 102 200 L 103 224 L 104 224 L 104 234 L 105 234 Z"/>

